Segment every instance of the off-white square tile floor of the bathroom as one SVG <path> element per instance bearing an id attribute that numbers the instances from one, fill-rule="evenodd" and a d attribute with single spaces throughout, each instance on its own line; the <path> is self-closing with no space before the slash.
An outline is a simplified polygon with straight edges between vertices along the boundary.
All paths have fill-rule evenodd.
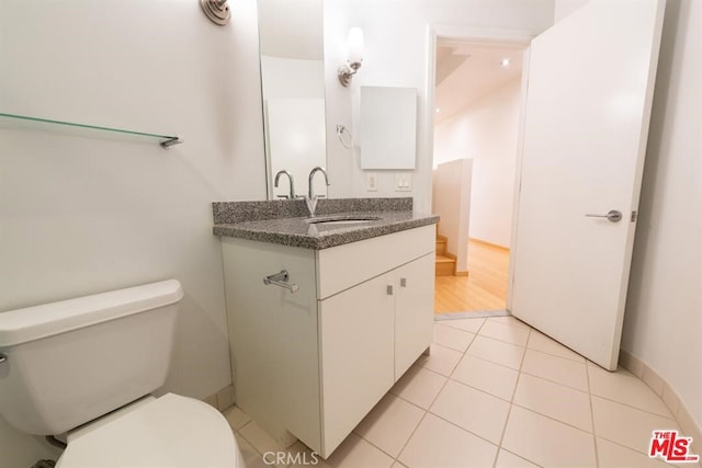
<path id="1" fill-rule="evenodd" d="M 270 466 L 261 454 L 282 447 L 240 409 L 225 414 L 247 467 Z M 647 456 L 652 431 L 659 429 L 679 425 L 633 374 L 603 370 L 511 317 L 445 320 L 434 326 L 431 355 L 420 357 L 329 459 L 312 465 L 316 458 L 298 442 L 287 461 L 322 468 L 664 467 Z"/>

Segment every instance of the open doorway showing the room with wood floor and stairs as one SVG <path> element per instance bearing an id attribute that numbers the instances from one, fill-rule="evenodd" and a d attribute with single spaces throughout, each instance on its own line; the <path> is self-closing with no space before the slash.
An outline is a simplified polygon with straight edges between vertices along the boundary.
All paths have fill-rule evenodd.
<path id="1" fill-rule="evenodd" d="M 455 258 L 450 274 L 438 267 L 437 315 L 507 309 L 529 41 L 435 35 L 432 210 L 442 219 L 438 259 L 444 241 L 445 254 Z"/>

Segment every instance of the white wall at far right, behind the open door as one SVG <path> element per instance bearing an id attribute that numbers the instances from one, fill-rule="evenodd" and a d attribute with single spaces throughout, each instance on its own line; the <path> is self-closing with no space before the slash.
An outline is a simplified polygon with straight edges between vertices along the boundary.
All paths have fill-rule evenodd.
<path id="1" fill-rule="evenodd" d="M 702 423 L 700 31 L 702 2 L 668 1 L 622 340 L 624 350 L 677 390 L 698 426 Z"/>

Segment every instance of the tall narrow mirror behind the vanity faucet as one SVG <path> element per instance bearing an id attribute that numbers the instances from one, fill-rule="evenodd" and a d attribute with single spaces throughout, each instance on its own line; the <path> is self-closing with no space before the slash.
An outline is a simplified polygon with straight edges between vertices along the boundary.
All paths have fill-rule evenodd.
<path id="1" fill-rule="evenodd" d="M 307 193 L 313 168 L 326 168 L 322 0 L 258 0 L 269 199 Z M 315 178 L 315 194 L 327 194 Z"/>

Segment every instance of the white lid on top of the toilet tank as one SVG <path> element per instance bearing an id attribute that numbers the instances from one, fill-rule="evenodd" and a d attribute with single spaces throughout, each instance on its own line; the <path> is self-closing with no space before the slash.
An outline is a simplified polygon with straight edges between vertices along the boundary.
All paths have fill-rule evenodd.
<path id="1" fill-rule="evenodd" d="M 183 288 L 167 279 L 0 313 L 0 349 L 178 303 Z"/>

